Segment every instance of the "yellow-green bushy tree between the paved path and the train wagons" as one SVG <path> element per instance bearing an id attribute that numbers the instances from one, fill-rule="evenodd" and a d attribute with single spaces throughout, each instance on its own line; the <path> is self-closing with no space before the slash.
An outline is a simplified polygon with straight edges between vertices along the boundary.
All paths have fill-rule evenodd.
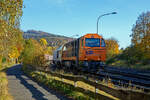
<path id="1" fill-rule="evenodd" d="M 46 68 L 45 47 L 34 39 L 25 40 L 21 59 L 24 65 L 32 65 L 33 68 Z"/>

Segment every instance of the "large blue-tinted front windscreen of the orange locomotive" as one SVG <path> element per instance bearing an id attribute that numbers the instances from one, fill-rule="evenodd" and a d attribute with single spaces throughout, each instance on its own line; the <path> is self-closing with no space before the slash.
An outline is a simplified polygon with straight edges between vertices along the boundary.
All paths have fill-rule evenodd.
<path id="1" fill-rule="evenodd" d="M 100 47 L 100 39 L 99 38 L 86 38 L 85 46 L 86 47 Z"/>

